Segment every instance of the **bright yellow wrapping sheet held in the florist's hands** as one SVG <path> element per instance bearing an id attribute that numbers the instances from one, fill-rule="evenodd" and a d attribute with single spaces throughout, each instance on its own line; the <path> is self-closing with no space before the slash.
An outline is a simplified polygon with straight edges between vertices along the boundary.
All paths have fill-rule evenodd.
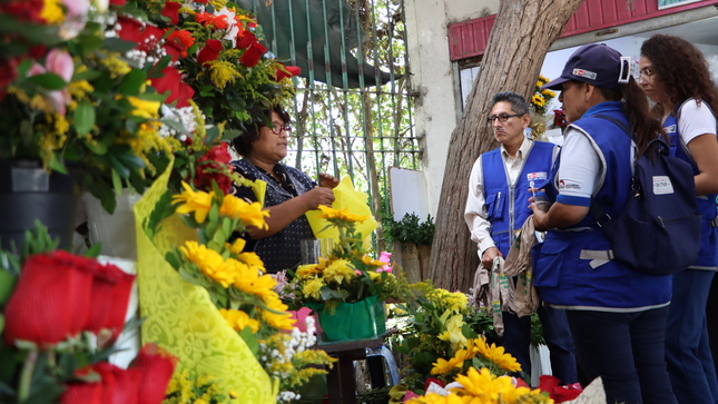
<path id="1" fill-rule="evenodd" d="M 364 236 L 364 248 L 370 248 L 372 245 L 372 231 L 376 228 L 376 220 L 372 216 L 372 209 L 366 205 L 366 194 L 354 189 L 352 178 L 346 176 L 342 178 L 340 185 L 334 188 L 334 203 L 332 204 L 333 209 L 346 209 L 351 214 L 367 217 L 366 220 L 357 223 L 355 228 L 357 233 L 361 233 L 362 236 Z M 338 244 L 340 230 L 334 226 L 330 226 L 330 223 L 326 219 L 318 218 L 317 216 L 321 214 L 321 210 L 309 210 L 306 213 L 306 217 L 309 220 L 309 226 L 312 226 L 314 236 L 317 238 L 332 238 L 335 244 Z M 326 226 L 330 226 L 330 228 L 324 229 Z"/>

